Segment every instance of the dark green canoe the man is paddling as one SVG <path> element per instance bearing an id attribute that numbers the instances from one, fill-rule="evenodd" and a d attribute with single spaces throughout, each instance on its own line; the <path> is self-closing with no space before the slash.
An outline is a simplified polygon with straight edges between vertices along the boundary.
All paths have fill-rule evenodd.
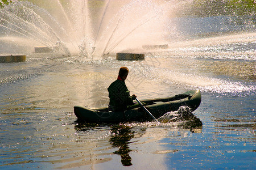
<path id="1" fill-rule="evenodd" d="M 155 118 L 163 116 L 164 113 L 177 111 L 181 106 L 189 107 L 191 112 L 195 111 L 201 103 L 199 90 L 187 91 L 184 94 L 159 99 L 141 100 L 145 107 Z M 108 108 L 92 109 L 88 107 L 75 106 L 74 112 L 79 120 L 86 122 L 125 122 L 125 121 L 150 121 L 152 118 L 143 108 L 133 108 L 124 112 L 109 112 Z"/>

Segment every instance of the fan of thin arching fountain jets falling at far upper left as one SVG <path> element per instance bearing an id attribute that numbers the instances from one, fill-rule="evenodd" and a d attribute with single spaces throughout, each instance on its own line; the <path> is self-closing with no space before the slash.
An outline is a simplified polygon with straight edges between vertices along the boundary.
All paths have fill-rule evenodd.
<path id="1" fill-rule="evenodd" d="M 13 1 L 0 10 L 0 15 L 0 26 L 4 28 L 6 37 L 26 38 L 38 42 L 35 45 L 48 47 L 61 44 L 59 49 L 64 50 L 64 52 L 67 51 L 57 31 L 53 29 L 59 24 L 46 10 L 29 2 Z M 63 30 L 59 25 L 59 31 Z M 67 33 L 64 32 L 64 34 L 67 36 Z M 62 48 L 63 46 L 65 49 Z"/>

